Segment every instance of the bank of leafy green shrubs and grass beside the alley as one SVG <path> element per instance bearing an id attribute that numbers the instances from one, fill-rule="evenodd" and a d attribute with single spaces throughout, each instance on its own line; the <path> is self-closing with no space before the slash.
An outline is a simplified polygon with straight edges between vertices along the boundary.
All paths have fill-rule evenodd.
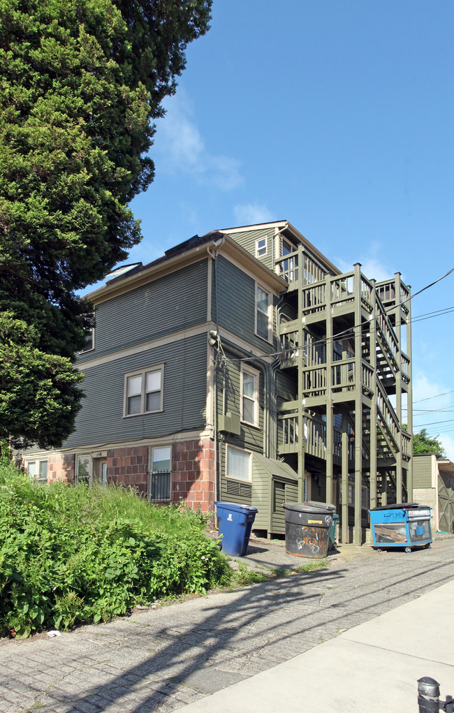
<path id="1" fill-rule="evenodd" d="M 205 518 L 133 491 L 43 486 L 0 463 L 0 630 L 107 621 L 136 604 L 229 581 Z"/>

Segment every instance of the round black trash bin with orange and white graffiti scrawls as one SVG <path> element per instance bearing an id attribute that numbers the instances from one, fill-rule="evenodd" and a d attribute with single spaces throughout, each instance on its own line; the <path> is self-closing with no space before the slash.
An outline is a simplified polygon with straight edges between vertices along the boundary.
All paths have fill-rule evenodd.
<path id="1" fill-rule="evenodd" d="M 296 557 L 318 559 L 328 554 L 334 505 L 284 503 L 285 551 Z"/>

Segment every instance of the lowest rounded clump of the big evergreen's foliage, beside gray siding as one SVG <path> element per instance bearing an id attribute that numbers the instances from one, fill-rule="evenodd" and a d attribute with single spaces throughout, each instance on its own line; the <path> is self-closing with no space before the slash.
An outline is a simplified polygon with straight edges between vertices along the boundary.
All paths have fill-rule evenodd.
<path id="1" fill-rule="evenodd" d="M 0 438 L 11 445 L 59 446 L 81 408 L 83 379 L 71 361 L 36 349 L 34 327 L 0 313 Z"/>

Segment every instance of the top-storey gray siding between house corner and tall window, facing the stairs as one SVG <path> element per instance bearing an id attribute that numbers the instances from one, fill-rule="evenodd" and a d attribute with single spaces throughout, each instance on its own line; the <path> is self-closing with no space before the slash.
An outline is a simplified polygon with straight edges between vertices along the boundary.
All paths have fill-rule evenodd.
<path id="1" fill-rule="evenodd" d="M 257 337 L 255 334 L 255 280 L 222 255 L 216 258 L 215 270 L 212 275 L 213 319 L 217 312 L 217 322 L 220 327 L 225 327 L 229 332 L 245 339 L 249 344 L 264 352 L 276 352 L 276 339 L 273 339 L 273 344 L 270 344 L 266 339 Z M 276 333 L 275 322 L 273 314 L 274 334 Z"/>

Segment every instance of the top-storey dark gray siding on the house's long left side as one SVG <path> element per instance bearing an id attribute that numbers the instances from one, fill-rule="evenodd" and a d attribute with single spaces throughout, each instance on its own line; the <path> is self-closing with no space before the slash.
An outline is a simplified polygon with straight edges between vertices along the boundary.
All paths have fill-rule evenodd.
<path id="1" fill-rule="evenodd" d="M 83 363 L 207 321 L 208 259 L 96 307 L 95 349 Z"/>

